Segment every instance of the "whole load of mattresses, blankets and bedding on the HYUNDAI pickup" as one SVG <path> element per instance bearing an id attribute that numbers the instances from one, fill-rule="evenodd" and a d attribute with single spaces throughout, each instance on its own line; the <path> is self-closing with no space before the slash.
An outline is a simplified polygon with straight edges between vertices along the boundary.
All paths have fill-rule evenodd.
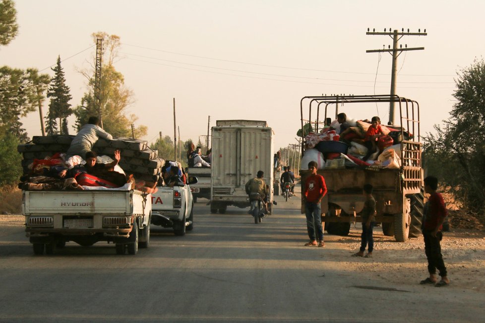
<path id="1" fill-rule="evenodd" d="M 98 178 L 86 174 L 81 157 L 66 159 L 65 152 L 72 138 L 74 136 L 69 135 L 34 136 L 32 142 L 18 145 L 24 173 L 18 187 L 23 190 L 137 189 L 147 193 L 157 190 L 165 160 L 158 157 L 158 152 L 150 149 L 146 141 L 98 140 L 93 147 L 100 155 L 97 162 L 112 162 L 109 155 L 113 156 L 115 150 L 121 151 L 119 164 Z M 67 176 L 58 175 L 62 169 L 67 170 Z"/>

